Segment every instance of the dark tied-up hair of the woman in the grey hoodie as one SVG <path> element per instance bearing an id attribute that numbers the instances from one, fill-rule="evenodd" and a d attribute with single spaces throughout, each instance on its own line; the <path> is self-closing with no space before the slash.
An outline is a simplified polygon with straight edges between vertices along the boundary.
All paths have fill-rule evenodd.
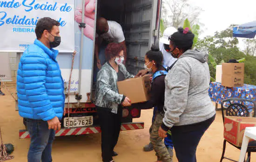
<path id="1" fill-rule="evenodd" d="M 169 40 L 171 44 L 185 52 L 192 49 L 194 37 L 195 34 L 189 31 L 189 28 L 183 29 L 180 27 L 177 32 L 169 37 Z"/>

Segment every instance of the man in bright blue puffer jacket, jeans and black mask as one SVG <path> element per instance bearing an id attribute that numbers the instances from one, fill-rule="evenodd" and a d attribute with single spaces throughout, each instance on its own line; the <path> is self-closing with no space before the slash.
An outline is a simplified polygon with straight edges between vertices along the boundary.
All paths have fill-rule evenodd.
<path id="1" fill-rule="evenodd" d="M 56 61 L 61 43 L 60 23 L 40 19 L 35 28 L 37 39 L 20 58 L 17 92 L 20 116 L 26 118 L 31 137 L 28 162 L 52 162 L 55 131 L 61 129 L 65 95 L 60 67 Z"/>

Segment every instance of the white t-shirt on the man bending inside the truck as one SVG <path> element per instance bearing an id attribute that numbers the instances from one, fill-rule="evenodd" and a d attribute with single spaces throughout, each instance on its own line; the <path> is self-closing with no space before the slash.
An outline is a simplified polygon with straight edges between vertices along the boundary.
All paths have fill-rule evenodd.
<path id="1" fill-rule="evenodd" d="M 108 32 L 101 35 L 101 37 L 108 43 L 121 43 L 125 40 L 123 30 L 120 24 L 115 21 L 108 21 Z M 96 37 L 99 37 L 96 34 Z"/>

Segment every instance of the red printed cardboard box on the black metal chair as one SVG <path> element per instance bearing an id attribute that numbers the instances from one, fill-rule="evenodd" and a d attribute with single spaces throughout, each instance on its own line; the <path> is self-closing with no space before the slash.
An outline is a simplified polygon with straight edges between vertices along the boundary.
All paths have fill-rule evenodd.
<path id="1" fill-rule="evenodd" d="M 253 126 L 256 126 L 256 118 L 226 116 L 224 120 L 224 138 L 230 143 L 241 147 L 245 128 Z"/>

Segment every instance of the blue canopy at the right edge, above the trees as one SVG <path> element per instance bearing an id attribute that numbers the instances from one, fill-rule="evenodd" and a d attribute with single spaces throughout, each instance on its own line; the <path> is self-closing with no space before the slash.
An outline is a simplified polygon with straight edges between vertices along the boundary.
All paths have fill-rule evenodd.
<path id="1" fill-rule="evenodd" d="M 233 28 L 233 37 L 254 38 L 256 35 L 256 21 Z"/>

